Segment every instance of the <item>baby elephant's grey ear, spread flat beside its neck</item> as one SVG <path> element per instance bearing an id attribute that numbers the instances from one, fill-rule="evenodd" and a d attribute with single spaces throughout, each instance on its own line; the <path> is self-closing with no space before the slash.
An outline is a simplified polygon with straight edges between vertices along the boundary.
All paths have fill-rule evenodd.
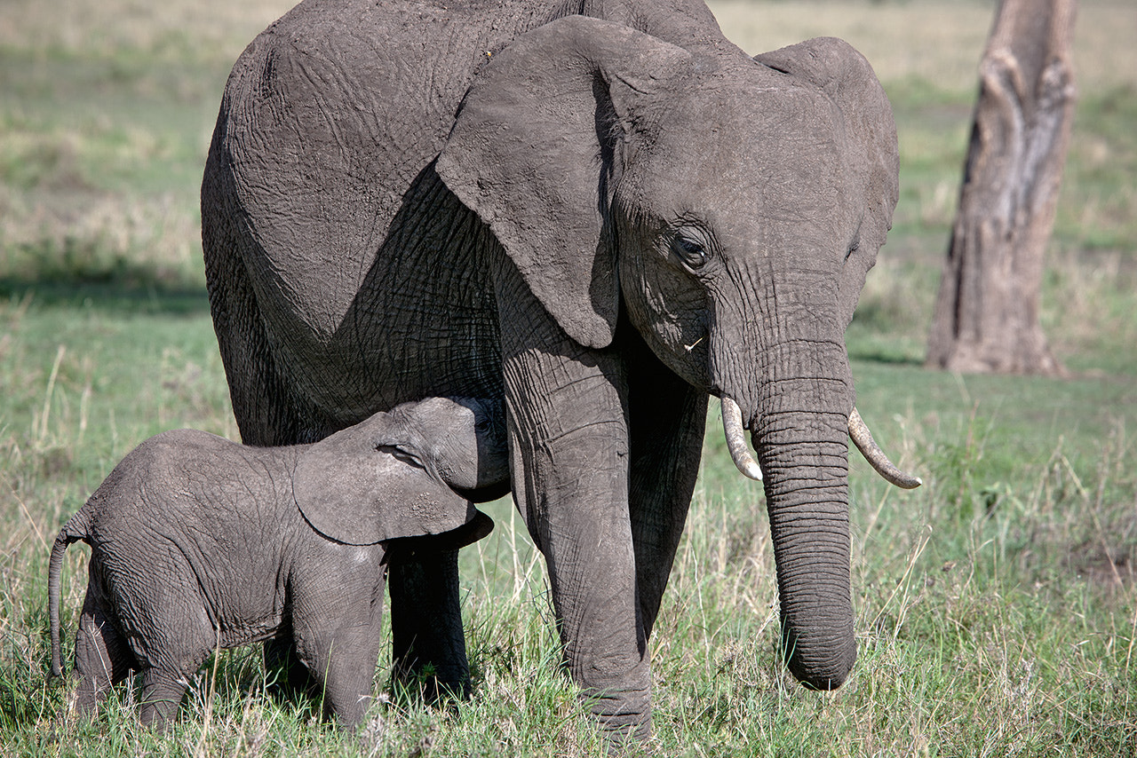
<path id="1" fill-rule="evenodd" d="M 376 435 L 374 426 L 365 422 L 305 445 L 292 492 L 313 528 L 337 542 L 375 544 L 442 534 L 475 518 L 473 505 L 417 451 Z"/>

